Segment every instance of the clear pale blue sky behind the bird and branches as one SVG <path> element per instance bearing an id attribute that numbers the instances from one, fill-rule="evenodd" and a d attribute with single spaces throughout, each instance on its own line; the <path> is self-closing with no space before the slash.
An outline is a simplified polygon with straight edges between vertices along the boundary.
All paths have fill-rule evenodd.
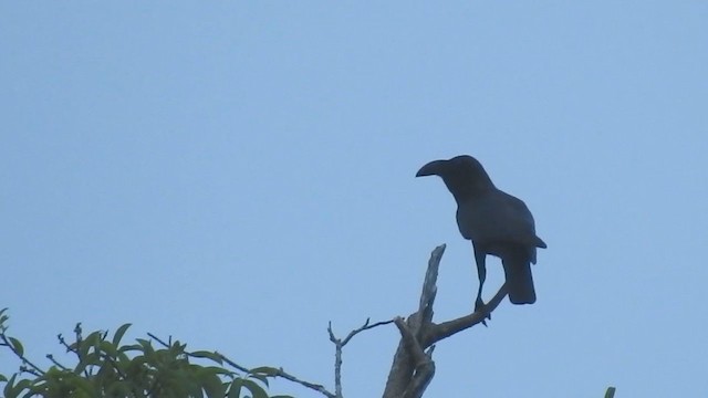
<path id="1" fill-rule="evenodd" d="M 132 322 L 332 387 L 327 322 L 412 313 L 440 243 L 435 320 L 470 312 L 452 197 L 414 178 L 470 154 L 549 249 L 538 302 L 440 343 L 428 396 L 705 396 L 707 21 L 698 0 L 4 1 L 0 307 L 40 363 L 75 322 Z M 345 396 L 381 395 L 397 342 L 346 347 Z"/>

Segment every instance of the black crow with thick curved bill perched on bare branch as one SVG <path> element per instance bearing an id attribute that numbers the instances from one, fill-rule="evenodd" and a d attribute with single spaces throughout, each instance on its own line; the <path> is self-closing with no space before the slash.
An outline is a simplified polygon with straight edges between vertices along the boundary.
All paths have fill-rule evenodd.
<path id="1" fill-rule="evenodd" d="M 546 245 L 535 235 L 533 216 L 527 205 L 497 189 L 482 165 L 468 155 L 430 161 L 416 174 L 416 177 L 423 176 L 442 178 L 457 201 L 460 233 L 472 241 L 479 274 L 475 310 L 485 305 L 481 295 L 487 279 L 487 254 L 501 259 L 509 301 L 533 304 L 535 291 L 531 263 L 535 264 L 535 249 L 545 249 Z"/>

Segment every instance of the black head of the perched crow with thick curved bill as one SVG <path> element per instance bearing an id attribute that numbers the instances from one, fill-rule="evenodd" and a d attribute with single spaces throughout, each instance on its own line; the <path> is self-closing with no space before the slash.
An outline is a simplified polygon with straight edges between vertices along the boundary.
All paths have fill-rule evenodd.
<path id="1" fill-rule="evenodd" d="M 459 202 L 479 192 L 494 188 L 482 165 L 469 155 L 448 160 L 433 160 L 423 166 L 416 177 L 439 176 Z"/>

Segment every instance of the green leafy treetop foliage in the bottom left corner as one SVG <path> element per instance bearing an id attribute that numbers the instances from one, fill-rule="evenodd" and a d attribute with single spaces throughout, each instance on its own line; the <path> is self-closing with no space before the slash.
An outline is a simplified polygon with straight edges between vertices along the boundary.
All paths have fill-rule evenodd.
<path id="1" fill-rule="evenodd" d="M 112 337 L 102 331 L 84 336 L 77 324 L 73 343 L 58 336 L 75 364 L 66 366 L 48 355 L 53 365 L 43 369 L 25 357 L 18 338 L 7 334 L 6 312 L 7 308 L 0 310 L 0 346 L 21 362 L 19 373 L 10 377 L 0 374 L 6 398 L 269 397 L 266 388 L 268 378 L 272 377 L 270 368 L 249 370 L 219 353 L 188 352 L 186 344 L 164 342 L 150 334 L 152 339 L 137 338 L 135 344 L 121 345 L 131 324 L 118 327 Z"/>

